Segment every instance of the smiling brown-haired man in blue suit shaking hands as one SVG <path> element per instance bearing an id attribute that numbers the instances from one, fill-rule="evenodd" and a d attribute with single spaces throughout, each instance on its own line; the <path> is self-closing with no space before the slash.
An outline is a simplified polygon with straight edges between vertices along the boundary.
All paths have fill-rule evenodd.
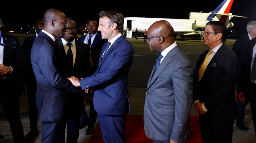
<path id="1" fill-rule="evenodd" d="M 121 34 L 124 17 L 114 10 L 99 13 L 102 39 L 108 39 L 99 58 L 98 69 L 90 77 L 70 77 L 75 86 L 86 92 L 94 89 L 93 103 L 98 114 L 101 133 L 106 143 L 125 141 L 125 115 L 130 113 L 128 74 L 133 62 L 133 46 Z"/>

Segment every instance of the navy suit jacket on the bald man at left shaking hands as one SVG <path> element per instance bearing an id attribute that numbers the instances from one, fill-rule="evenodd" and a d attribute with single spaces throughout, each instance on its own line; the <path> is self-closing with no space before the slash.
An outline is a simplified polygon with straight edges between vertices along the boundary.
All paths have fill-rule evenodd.
<path id="1" fill-rule="evenodd" d="M 67 113 L 68 92 L 79 88 L 67 80 L 65 57 L 47 34 L 39 32 L 31 49 L 31 63 L 36 76 L 36 106 L 40 121 L 64 120 Z"/>

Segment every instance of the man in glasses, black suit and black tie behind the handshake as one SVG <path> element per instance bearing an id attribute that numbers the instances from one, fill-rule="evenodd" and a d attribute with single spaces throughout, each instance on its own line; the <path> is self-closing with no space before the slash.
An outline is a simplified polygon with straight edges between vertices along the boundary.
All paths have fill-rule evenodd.
<path id="1" fill-rule="evenodd" d="M 76 35 L 76 22 L 71 18 L 67 18 L 66 33 L 58 41 L 61 45 L 62 54 L 66 57 L 65 63 L 68 67 L 68 77 L 77 76 L 80 79 L 91 75 L 90 49 L 85 43 L 76 40 Z M 68 97 L 67 143 L 77 143 L 84 97 L 85 92 L 82 90 L 79 93 L 70 92 Z"/>

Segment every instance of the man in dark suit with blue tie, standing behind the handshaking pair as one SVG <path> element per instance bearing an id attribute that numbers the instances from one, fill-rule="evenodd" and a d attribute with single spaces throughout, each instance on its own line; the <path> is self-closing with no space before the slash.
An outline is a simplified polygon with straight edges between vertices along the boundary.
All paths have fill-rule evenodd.
<path id="1" fill-rule="evenodd" d="M 91 66 L 92 66 L 92 74 L 98 68 L 98 61 L 101 54 L 101 49 L 105 42 L 108 42 L 107 39 L 102 39 L 101 34 L 97 32 L 98 30 L 98 21 L 96 20 L 88 20 L 86 23 L 86 30 L 88 34 L 81 36 L 78 40 L 86 43 L 91 51 Z M 82 114 L 81 114 L 81 123 L 80 129 L 85 127 L 88 124 L 88 128 L 86 134 L 91 135 L 94 132 L 93 124 L 96 122 L 97 112 L 93 106 L 93 92 L 89 92 L 86 98 L 86 105 L 90 105 L 90 114 L 89 117 L 86 114 L 85 106 L 83 106 Z"/>

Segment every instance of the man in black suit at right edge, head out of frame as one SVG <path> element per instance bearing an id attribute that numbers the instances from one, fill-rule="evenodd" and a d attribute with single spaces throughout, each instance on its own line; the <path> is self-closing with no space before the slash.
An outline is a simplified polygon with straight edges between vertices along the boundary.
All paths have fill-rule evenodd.
<path id="1" fill-rule="evenodd" d="M 256 29 L 255 29 L 256 30 Z M 255 53 L 256 53 L 256 38 L 251 39 L 247 45 L 247 52 L 241 69 L 239 78 L 237 96 L 246 97 L 245 102 L 250 101 L 251 115 L 256 133 L 256 68 Z"/>

